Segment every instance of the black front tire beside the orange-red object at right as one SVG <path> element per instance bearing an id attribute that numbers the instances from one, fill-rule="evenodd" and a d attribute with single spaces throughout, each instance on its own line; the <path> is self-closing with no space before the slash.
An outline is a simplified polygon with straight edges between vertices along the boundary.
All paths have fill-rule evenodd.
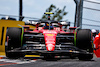
<path id="1" fill-rule="evenodd" d="M 93 52 L 92 33 L 90 29 L 78 30 L 76 47 L 90 53 Z"/>

